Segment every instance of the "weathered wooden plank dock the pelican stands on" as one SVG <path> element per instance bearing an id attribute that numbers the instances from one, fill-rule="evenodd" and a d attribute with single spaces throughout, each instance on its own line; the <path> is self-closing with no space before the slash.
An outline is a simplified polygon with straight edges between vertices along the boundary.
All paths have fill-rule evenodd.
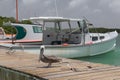
<path id="1" fill-rule="evenodd" d="M 37 54 L 0 49 L 0 80 L 120 80 L 120 67 L 62 58 L 46 68 Z"/>

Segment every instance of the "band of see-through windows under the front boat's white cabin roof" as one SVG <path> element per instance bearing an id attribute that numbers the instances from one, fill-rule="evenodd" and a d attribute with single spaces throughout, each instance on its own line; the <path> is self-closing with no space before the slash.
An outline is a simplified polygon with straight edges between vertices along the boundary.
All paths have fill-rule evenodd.
<path id="1" fill-rule="evenodd" d="M 56 32 L 80 32 L 80 26 L 76 21 L 63 21 L 63 22 L 45 22 L 45 30 L 54 30 Z"/>

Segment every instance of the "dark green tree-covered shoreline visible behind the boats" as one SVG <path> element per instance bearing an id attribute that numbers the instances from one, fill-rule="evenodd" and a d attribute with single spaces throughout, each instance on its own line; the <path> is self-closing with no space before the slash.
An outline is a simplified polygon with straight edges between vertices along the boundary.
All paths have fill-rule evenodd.
<path id="1" fill-rule="evenodd" d="M 3 25 L 3 22 L 11 22 L 11 23 L 15 23 L 16 20 L 14 17 L 3 17 L 3 16 L 0 16 L 0 26 L 2 26 L 4 29 L 5 29 L 5 32 L 7 34 L 10 34 L 11 33 L 11 27 L 4 27 Z M 23 20 L 23 21 L 19 21 L 19 23 L 22 23 L 22 24 L 31 24 L 31 21 L 29 20 Z M 117 31 L 118 33 L 120 33 L 120 29 L 118 28 L 103 28 L 103 27 L 99 27 L 99 28 L 90 28 L 89 31 L 90 32 L 99 32 L 99 33 L 105 33 L 105 32 L 111 32 L 111 31 Z M 13 29 L 13 33 L 15 34 L 16 31 L 15 29 Z"/>

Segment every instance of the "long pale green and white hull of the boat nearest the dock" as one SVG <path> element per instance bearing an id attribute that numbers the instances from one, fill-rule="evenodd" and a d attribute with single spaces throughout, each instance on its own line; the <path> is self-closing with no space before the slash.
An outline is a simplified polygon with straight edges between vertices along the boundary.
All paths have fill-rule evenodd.
<path id="1" fill-rule="evenodd" d="M 54 55 L 65 58 L 76 58 L 85 56 L 94 56 L 103 54 L 113 50 L 116 46 L 116 38 L 118 33 L 116 31 L 106 33 L 108 38 L 99 40 L 98 42 L 82 44 L 61 44 L 61 45 L 45 45 L 44 55 Z M 1 46 L 9 48 L 12 46 L 16 50 L 24 50 L 29 53 L 40 54 L 41 45 L 8 45 L 1 44 Z"/>

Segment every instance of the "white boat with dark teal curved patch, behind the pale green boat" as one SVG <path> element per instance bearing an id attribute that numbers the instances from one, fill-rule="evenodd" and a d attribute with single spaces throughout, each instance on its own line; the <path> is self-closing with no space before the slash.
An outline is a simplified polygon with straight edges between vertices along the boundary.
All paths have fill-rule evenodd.
<path id="1" fill-rule="evenodd" d="M 4 25 L 10 25 L 16 29 L 15 35 L 11 34 L 11 38 L 3 38 L 0 43 L 12 43 L 12 44 L 41 44 L 42 42 L 42 27 L 39 25 L 29 24 L 15 24 L 5 23 Z M 5 33 L 4 33 L 5 35 Z"/>

